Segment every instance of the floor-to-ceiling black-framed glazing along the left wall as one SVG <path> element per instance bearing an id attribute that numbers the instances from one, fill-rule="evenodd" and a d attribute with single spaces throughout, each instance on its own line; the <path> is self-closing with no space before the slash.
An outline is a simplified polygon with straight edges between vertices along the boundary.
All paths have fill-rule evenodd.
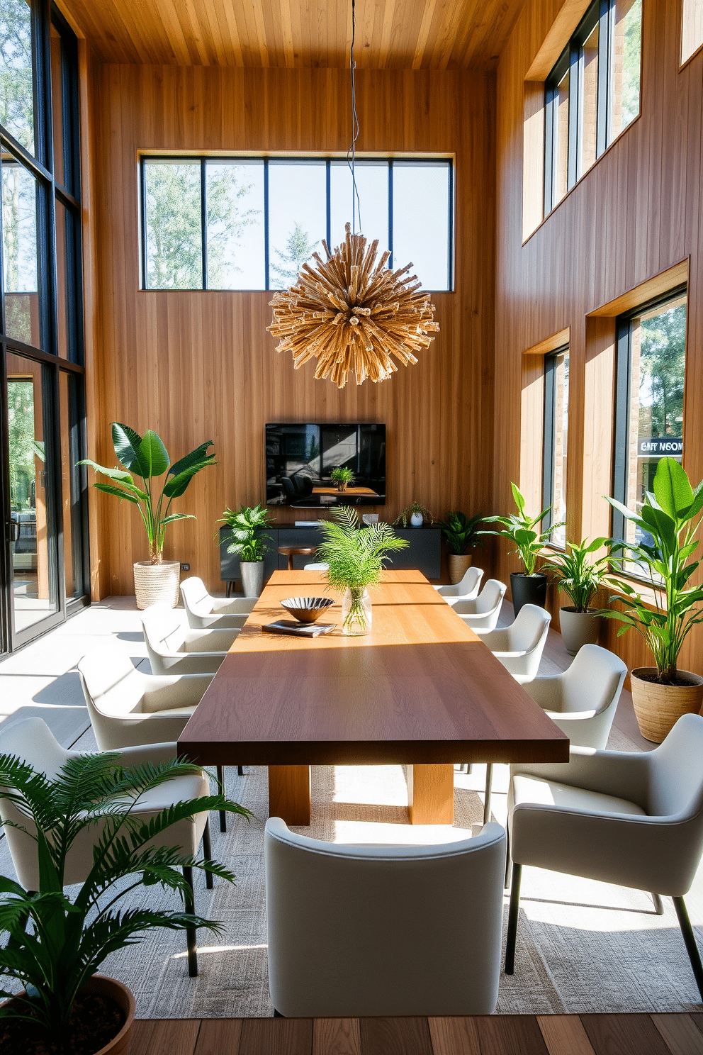
<path id="1" fill-rule="evenodd" d="M 76 38 L 0 0 L 0 652 L 87 592 Z"/>

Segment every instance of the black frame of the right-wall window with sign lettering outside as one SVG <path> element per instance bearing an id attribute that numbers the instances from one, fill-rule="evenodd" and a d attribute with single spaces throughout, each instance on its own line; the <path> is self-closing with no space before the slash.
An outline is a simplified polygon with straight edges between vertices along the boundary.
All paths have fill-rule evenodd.
<path id="1" fill-rule="evenodd" d="M 629 465 L 629 415 L 632 386 L 632 348 L 631 348 L 631 323 L 643 312 L 651 311 L 653 308 L 665 307 L 669 302 L 676 301 L 682 295 L 686 296 L 686 320 L 688 319 L 688 287 L 686 283 L 676 286 L 658 296 L 639 304 L 637 308 L 623 312 L 616 319 L 616 381 L 614 381 L 614 410 L 613 410 L 613 452 L 612 452 L 612 480 L 610 494 L 612 497 L 627 505 L 627 472 Z M 686 386 L 686 364 L 684 359 L 684 394 Z M 685 405 L 685 395 L 684 395 Z M 612 538 L 625 538 L 625 517 L 611 506 L 610 535 Z M 639 578 L 627 572 L 628 578 Z"/>

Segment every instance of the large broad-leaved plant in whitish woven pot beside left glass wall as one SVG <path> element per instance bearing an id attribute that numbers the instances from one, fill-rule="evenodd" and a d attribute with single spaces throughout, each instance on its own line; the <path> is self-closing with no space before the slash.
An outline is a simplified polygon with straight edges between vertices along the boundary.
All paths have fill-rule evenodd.
<path id="1" fill-rule="evenodd" d="M 175 608 L 178 603 L 180 561 L 163 559 L 165 530 L 176 520 L 194 520 L 195 517 L 192 513 L 171 513 L 171 503 L 184 494 L 196 473 L 215 464 L 214 454 L 208 454 L 213 442 L 208 440 L 201 443 L 172 465 L 161 437 L 151 428 L 141 437 L 129 425 L 113 421 L 112 438 L 115 456 L 122 468 L 108 468 L 90 458 L 77 464 L 91 465 L 96 473 L 108 477 L 110 483 L 93 484 L 98 491 L 116 495 L 139 510 L 149 539 L 149 560 L 137 560 L 134 565 L 137 608 L 144 609 L 156 603 Z M 141 486 L 135 483 L 133 473 L 141 479 Z M 164 474 L 165 479 L 158 494 L 158 487 L 153 491 L 152 481 Z"/>

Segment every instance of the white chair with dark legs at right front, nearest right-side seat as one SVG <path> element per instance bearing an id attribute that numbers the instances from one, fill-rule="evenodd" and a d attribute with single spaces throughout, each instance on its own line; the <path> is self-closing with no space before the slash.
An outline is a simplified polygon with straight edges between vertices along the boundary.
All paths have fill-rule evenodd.
<path id="1" fill-rule="evenodd" d="M 703 997 L 684 895 L 703 851 L 703 717 L 684 714 L 653 751 L 573 748 L 568 763 L 512 767 L 512 888 L 505 970 L 514 968 L 523 865 L 673 899 Z"/>

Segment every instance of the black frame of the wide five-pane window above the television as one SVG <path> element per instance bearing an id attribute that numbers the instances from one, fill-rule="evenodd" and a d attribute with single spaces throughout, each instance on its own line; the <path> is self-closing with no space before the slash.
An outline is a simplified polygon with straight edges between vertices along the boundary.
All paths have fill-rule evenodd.
<path id="1" fill-rule="evenodd" d="M 263 165 L 263 260 L 265 260 L 265 286 L 263 289 L 237 289 L 237 290 L 221 290 L 218 287 L 210 287 L 208 285 L 208 224 L 207 224 L 207 177 L 206 170 L 209 161 L 212 162 L 222 162 L 226 160 L 240 161 L 240 162 L 251 162 L 258 161 Z M 200 286 L 193 286 L 190 289 L 170 289 L 168 287 L 152 287 L 149 285 L 149 262 L 148 262 L 148 227 L 147 227 L 147 165 L 150 161 L 167 162 L 172 165 L 179 164 L 195 164 L 200 165 L 200 237 L 202 244 L 202 284 Z M 301 155 L 285 155 L 277 157 L 275 155 L 261 156 L 260 154 L 248 154 L 248 155 L 200 155 L 200 154 L 150 154 L 143 153 L 139 156 L 139 269 L 140 269 L 140 282 L 139 289 L 141 292 L 275 292 L 281 289 L 280 286 L 271 285 L 271 271 L 270 271 L 270 246 L 269 246 L 269 166 L 270 165 L 316 165 L 326 166 L 326 241 L 327 244 L 331 244 L 331 167 L 332 165 L 338 165 L 345 162 L 344 157 L 339 156 L 314 156 L 310 154 Z M 446 166 L 447 168 L 447 181 L 448 181 L 448 217 L 447 217 L 447 288 L 446 289 L 430 289 L 427 287 L 428 292 L 437 293 L 453 293 L 454 288 L 454 160 L 451 157 L 405 157 L 398 155 L 395 157 L 365 157 L 364 155 L 356 157 L 356 165 L 363 166 L 365 162 L 373 165 L 387 165 L 388 166 L 388 249 L 390 251 L 390 257 L 388 261 L 389 267 L 394 267 L 393 263 L 393 171 L 394 169 L 407 167 L 407 166 L 422 166 L 422 165 L 432 165 L 432 166 Z"/>

